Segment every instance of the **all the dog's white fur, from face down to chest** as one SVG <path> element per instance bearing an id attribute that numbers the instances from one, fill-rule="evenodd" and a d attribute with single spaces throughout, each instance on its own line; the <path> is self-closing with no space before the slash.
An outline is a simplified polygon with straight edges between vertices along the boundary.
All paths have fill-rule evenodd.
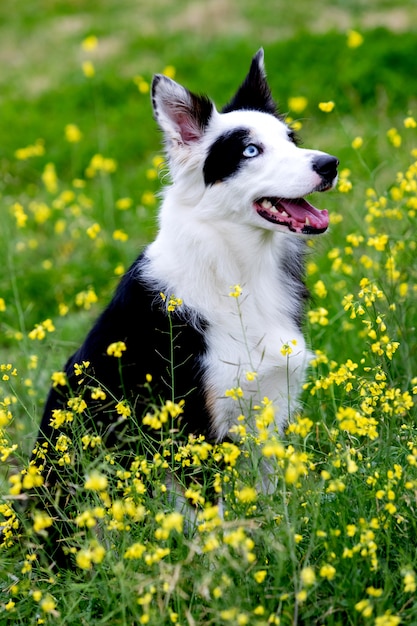
<path id="1" fill-rule="evenodd" d="M 217 439 L 228 435 L 241 411 L 239 403 L 225 397 L 236 386 L 243 390 L 246 407 L 265 396 L 272 400 L 275 426 L 282 432 L 296 408 L 309 355 L 294 321 L 295 287 L 280 271 L 284 258 L 298 256 L 301 242 L 285 226 L 260 217 L 253 202 L 314 191 L 321 178 L 312 158 L 323 153 L 298 148 L 283 122 L 258 111 L 221 114 L 214 109 L 204 132 L 194 128 L 197 140 L 190 139 L 190 126 L 186 133 L 181 127 L 184 116 L 178 122 L 178 101 L 189 106 L 188 92 L 166 80 L 155 91 L 172 184 L 163 193 L 159 233 L 148 248 L 148 280 L 208 321 L 203 365 Z M 170 108 L 171 100 L 177 104 Z M 203 165 L 210 145 L 241 127 L 250 129 L 262 154 L 230 179 L 206 186 Z M 238 301 L 229 295 L 236 284 L 242 287 Z M 293 353 L 284 356 L 283 344 L 292 341 Z M 250 371 L 257 373 L 252 382 L 246 378 Z"/>

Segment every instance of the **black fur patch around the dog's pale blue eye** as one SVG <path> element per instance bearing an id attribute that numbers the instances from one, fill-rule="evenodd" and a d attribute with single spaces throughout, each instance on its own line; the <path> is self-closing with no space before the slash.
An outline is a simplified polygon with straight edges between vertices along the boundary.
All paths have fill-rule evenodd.
<path id="1" fill-rule="evenodd" d="M 243 151 L 250 143 L 250 131 L 245 128 L 229 131 L 216 139 L 210 147 L 203 167 L 206 185 L 214 185 L 236 174 L 247 161 Z"/>

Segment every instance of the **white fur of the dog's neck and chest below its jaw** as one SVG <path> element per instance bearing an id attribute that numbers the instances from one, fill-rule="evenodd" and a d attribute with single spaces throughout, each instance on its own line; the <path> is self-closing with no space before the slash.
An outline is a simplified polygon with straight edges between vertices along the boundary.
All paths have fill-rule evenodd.
<path id="1" fill-rule="evenodd" d="M 188 243 L 175 249 L 162 230 L 148 249 L 149 276 L 207 321 L 202 366 L 213 436 L 228 436 L 237 417 L 249 416 L 264 398 L 273 403 L 275 426 L 282 433 L 297 406 L 308 359 L 295 322 L 300 296 L 282 264 L 297 250 L 279 234 L 259 241 L 254 233 L 242 246 L 241 233 L 225 239 L 211 232 L 209 237 L 210 228 L 204 226 L 192 237 L 184 229 Z M 201 232 L 204 239 L 198 237 Z M 230 295 L 236 284 L 238 297 Z M 242 390 L 238 400 L 228 393 L 235 388 Z"/>

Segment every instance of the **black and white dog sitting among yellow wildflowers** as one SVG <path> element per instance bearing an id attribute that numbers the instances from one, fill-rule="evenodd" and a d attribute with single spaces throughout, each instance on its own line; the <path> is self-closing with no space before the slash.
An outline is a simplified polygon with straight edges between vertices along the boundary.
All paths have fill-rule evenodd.
<path id="1" fill-rule="evenodd" d="M 260 50 L 220 112 L 208 98 L 154 77 L 152 104 L 172 181 L 163 191 L 159 232 L 69 359 L 68 385 L 51 389 L 40 442 L 57 436 L 54 409 L 82 394 L 85 419 L 107 445 L 129 442 L 134 452 L 149 386 L 156 403 L 184 400 L 186 433 L 222 441 L 241 403 L 249 415 L 264 397 L 283 432 L 309 355 L 301 331 L 306 237 L 329 224 L 327 211 L 304 196 L 335 185 L 338 161 L 297 146 L 277 114 L 263 58 Z M 236 285 L 241 294 L 233 297 Z M 107 348 L 118 341 L 126 350 L 115 358 Z M 89 365 L 80 378 L 74 365 L 83 362 Z M 92 398 L 98 385 L 103 400 Z M 237 387 L 241 403 L 225 393 Z M 117 413 L 123 399 L 135 420 Z"/>

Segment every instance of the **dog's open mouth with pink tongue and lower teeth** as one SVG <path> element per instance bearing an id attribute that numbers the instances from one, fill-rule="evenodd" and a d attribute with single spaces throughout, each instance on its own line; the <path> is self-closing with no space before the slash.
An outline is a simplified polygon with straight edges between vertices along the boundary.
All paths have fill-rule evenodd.
<path id="1" fill-rule="evenodd" d="M 304 198 L 260 198 L 254 205 L 258 215 L 273 224 L 286 226 L 293 233 L 319 235 L 329 226 L 328 212 L 319 211 Z"/>

